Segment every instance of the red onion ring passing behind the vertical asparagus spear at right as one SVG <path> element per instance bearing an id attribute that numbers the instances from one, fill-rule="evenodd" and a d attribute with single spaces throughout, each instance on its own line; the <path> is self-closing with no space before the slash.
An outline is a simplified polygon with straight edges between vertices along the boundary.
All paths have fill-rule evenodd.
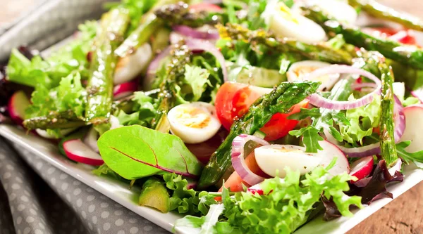
<path id="1" fill-rule="evenodd" d="M 395 142 L 398 143 L 400 141 L 401 136 L 403 136 L 405 131 L 405 115 L 403 112 L 403 105 L 401 104 L 401 101 L 397 98 L 397 96 L 394 96 L 395 98 L 395 106 L 393 108 L 393 116 L 395 121 L 395 129 L 394 129 L 394 139 Z M 337 145 L 338 148 L 340 148 L 345 155 L 348 157 L 367 157 L 372 155 L 379 155 L 381 153 L 380 143 L 374 143 L 371 145 L 366 145 L 362 147 L 356 147 L 356 148 L 346 148 L 342 145 L 339 145 L 339 142 L 336 141 L 335 138 L 324 129 L 324 135 L 326 136 L 326 140 Z"/>

